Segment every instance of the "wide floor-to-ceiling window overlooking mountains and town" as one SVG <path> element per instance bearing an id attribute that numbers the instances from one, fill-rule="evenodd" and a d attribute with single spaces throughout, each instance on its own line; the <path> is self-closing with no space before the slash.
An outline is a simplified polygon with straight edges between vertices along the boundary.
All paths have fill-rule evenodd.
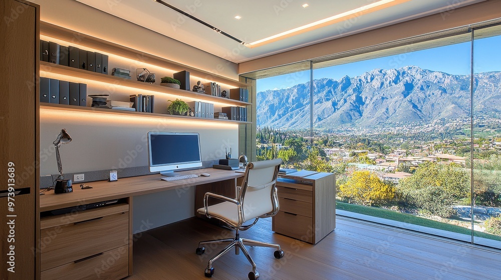
<path id="1" fill-rule="evenodd" d="M 336 171 L 342 214 L 501 247 L 500 29 L 334 54 L 309 61 L 313 74 L 304 63 L 258 79 L 258 159 Z"/>

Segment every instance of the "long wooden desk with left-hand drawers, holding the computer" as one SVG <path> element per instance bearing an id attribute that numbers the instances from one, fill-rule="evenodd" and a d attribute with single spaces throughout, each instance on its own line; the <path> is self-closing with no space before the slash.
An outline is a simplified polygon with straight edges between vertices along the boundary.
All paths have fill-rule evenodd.
<path id="1" fill-rule="evenodd" d="M 204 168 L 184 174 L 209 173 L 210 176 L 164 181 L 160 174 L 119 178 L 118 181 L 90 182 L 93 188 L 40 196 L 40 212 L 122 198 L 118 204 L 40 219 L 41 279 L 109 278 L 132 274 L 132 197 L 157 191 L 196 186 L 196 209 L 203 205 L 206 191 L 235 195 L 236 178 L 232 170 Z"/>

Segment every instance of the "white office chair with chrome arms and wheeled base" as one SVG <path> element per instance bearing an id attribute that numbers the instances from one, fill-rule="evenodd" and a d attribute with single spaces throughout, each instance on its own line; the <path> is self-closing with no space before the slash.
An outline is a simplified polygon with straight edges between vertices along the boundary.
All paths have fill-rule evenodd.
<path id="1" fill-rule="evenodd" d="M 256 263 L 250 257 L 249 253 L 243 245 L 273 247 L 277 250 L 274 252 L 276 258 L 284 256 L 284 251 L 278 244 L 271 244 L 246 238 L 240 238 L 239 231 L 246 230 L 256 224 L 260 217 L 271 217 L 279 211 L 279 201 L 277 196 L 277 188 L 275 183 L 280 169 L 282 159 L 273 159 L 265 161 L 250 162 L 247 165 L 243 182 L 236 199 L 225 197 L 222 195 L 207 192 L 203 198 L 203 208 L 198 209 L 200 214 L 205 214 L 209 218 L 216 218 L 226 223 L 231 229 L 235 229 L 235 238 L 226 238 L 218 240 L 201 241 L 198 243 L 196 253 L 201 255 L 205 251 L 205 244 L 224 243 L 229 244 L 214 255 L 207 263 L 205 268 L 205 276 L 212 277 L 214 267 L 212 262 L 218 259 L 221 255 L 229 251 L 232 247 L 235 248 L 235 254 L 239 254 L 241 249 L 247 260 L 252 264 L 252 271 L 248 273 L 250 280 L 259 278 L 259 272 L 256 269 Z M 207 206 L 207 199 L 215 197 L 224 202 Z M 250 224 L 243 225 L 244 222 L 254 219 Z"/>

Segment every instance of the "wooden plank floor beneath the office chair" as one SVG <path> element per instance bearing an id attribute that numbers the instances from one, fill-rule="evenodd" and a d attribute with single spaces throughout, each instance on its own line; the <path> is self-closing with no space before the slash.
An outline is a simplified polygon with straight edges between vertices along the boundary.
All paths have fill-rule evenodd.
<path id="1" fill-rule="evenodd" d="M 262 219 L 241 237 L 279 243 L 285 251 L 248 247 L 260 279 L 501 279 L 501 254 L 373 226 L 336 220 L 336 229 L 316 245 L 271 231 Z M 198 241 L 233 237 L 199 218 L 139 233 L 134 241 L 133 275 L 127 279 L 207 279 L 208 259 L 223 246 L 195 254 Z M 243 254 L 226 253 L 213 263 L 212 279 L 247 279 Z"/>

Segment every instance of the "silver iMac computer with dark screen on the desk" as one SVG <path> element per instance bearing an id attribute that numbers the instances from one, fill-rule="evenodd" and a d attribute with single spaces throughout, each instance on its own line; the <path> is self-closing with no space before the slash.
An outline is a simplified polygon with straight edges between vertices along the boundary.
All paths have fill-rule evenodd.
<path id="1" fill-rule="evenodd" d="M 148 132 L 150 172 L 168 177 L 180 175 L 176 169 L 200 167 L 200 137 L 194 132 Z"/>

